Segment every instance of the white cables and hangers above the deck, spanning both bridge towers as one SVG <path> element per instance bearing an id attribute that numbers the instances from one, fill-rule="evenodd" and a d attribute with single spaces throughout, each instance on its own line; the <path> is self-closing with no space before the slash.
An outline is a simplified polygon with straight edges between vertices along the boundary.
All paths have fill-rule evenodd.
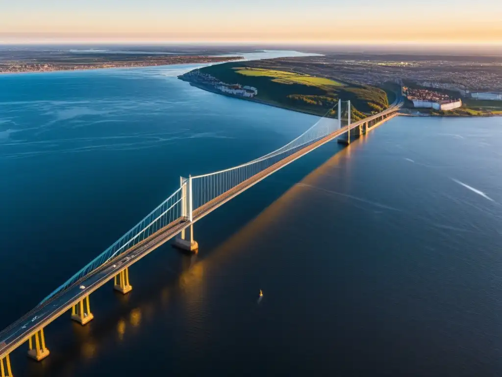
<path id="1" fill-rule="evenodd" d="M 120 237 L 105 251 L 87 263 L 83 268 L 66 280 L 61 286 L 48 295 L 40 304 L 50 300 L 70 286 L 76 284 L 106 262 L 126 252 L 131 247 L 142 242 L 158 230 L 178 221 L 192 221 L 193 211 L 202 207 L 213 199 L 232 190 L 235 186 L 252 176 L 264 171 L 277 162 L 291 156 L 302 148 L 315 143 L 341 128 L 343 114 L 350 111 L 350 104 L 342 109 L 342 102 L 338 104 L 338 119 L 322 117 L 312 127 L 293 141 L 275 151 L 259 157 L 253 161 L 219 170 L 209 174 L 181 178 L 180 188 L 162 202 L 142 221 Z M 326 114 L 332 114 L 328 110 Z"/>

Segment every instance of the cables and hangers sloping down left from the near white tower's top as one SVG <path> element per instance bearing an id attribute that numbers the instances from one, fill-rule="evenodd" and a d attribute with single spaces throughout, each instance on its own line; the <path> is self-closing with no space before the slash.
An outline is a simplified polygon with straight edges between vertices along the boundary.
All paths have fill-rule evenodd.
<path id="1" fill-rule="evenodd" d="M 162 202 L 157 208 L 150 212 L 143 220 L 136 224 L 131 230 L 115 241 L 111 246 L 104 250 L 97 257 L 92 259 L 83 268 L 77 271 L 73 276 L 66 280 L 61 286 L 48 295 L 42 303 L 63 292 L 68 287 L 75 284 L 78 280 L 88 275 L 104 263 L 116 258 L 126 252 L 131 247 L 145 240 L 153 233 L 163 227 L 177 221 L 187 220 L 186 214 L 186 195 L 187 180 L 181 182 L 181 186 L 169 198 Z M 184 209 L 185 208 L 185 209 Z"/>

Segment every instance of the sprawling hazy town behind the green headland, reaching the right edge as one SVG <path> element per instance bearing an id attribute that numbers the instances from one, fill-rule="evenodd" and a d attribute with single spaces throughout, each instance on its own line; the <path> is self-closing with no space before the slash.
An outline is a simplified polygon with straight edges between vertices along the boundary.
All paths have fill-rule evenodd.
<path id="1" fill-rule="evenodd" d="M 253 64 L 253 63 L 252 63 Z M 264 69 L 301 70 L 360 85 L 386 82 L 455 91 L 462 98 L 502 101 L 502 57 L 327 53 L 254 62 Z M 411 85 L 409 85 L 411 86 Z"/>

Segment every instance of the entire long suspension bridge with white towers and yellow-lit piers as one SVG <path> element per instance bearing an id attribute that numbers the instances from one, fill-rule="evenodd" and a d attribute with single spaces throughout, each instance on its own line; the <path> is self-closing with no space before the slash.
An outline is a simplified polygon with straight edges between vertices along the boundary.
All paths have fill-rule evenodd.
<path id="1" fill-rule="evenodd" d="M 9 355 L 27 341 L 30 357 L 40 361 L 49 355 L 44 328 L 63 313 L 71 310 L 71 319 L 82 325 L 91 321 L 94 317 L 89 295 L 108 281 L 113 279 L 114 289 L 122 294 L 130 292 L 129 267 L 145 255 L 177 235 L 175 246 L 196 251 L 198 245 L 193 238 L 196 221 L 319 146 L 336 138 L 350 143 L 351 139 L 397 116 L 402 106 L 401 100 L 397 100 L 385 111 L 351 123 L 350 102 L 345 104 L 338 102 L 338 119 L 321 118 L 302 135 L 265 156 L 228 169 L 181 177 L 179 189 L 135 227 L 0 332 L 0 377 L 12 377 Z"/>

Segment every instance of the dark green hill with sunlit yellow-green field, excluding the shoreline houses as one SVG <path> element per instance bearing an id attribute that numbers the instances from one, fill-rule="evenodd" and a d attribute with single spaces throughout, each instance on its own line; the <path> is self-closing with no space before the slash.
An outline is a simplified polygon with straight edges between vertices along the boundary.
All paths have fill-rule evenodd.
<path id="1" fill-rule="evenodd" d="M 353 120 L 389 107 L 387 93 L 377 87 L 353 85 L 296 71 L 263 69 L 246 62 L 230 62 L 200 69 L 226 83 L 258 89 L 256 99 L 286 109 L 336 117 L 338 99 L 350 100 Z M 330 111 L 335 107 L 334 110 Z M 329 113 L 328 113 L 329 112 Z"/>

